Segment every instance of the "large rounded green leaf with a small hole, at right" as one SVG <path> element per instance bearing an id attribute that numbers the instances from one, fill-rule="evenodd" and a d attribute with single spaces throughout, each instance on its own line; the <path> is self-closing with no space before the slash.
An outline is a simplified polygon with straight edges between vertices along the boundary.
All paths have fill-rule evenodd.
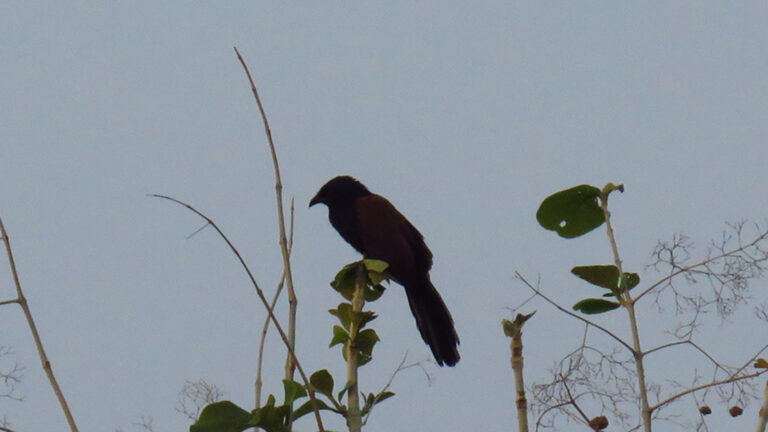
<path id="1" fill-rule="evenodd" d="M 600 189 L 580 185 L 548 196 L 539 206 L 536 219 L 539 224 L 560 237 L 574 238 L 584 235 L 605 222 L 597 198 Z"/>

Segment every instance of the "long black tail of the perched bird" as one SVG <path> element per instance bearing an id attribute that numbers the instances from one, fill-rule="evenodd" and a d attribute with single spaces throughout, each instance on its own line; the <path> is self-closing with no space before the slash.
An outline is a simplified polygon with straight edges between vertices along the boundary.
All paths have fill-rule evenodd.
<path id="1" fill-rule="evenodd" d="M 429 276 L 404 286 L 421 338 L 429 345 L 437 364 L 453 366 L 458 363 L 459 336 L 453 327 L 451 313 Z"/>

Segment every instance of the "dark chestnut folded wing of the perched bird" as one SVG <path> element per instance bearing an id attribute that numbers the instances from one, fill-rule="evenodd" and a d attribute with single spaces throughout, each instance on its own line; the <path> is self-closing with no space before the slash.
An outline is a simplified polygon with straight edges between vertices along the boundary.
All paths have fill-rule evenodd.
<path id="1" fill-rule="evenodd" d="M 389 263 L 395 279 L 423 274 L 432 267 L 432 252 L 408 219 L 386 198 L 379 195 L 360 197 L 355 203 L 363 253 Z"/>

